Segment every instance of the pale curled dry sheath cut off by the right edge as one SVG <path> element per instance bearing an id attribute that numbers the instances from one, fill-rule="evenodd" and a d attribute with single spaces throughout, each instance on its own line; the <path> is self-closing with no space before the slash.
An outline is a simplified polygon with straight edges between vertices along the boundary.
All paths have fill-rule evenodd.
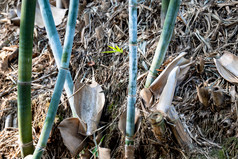
<path id="1" fill-rule="evenodd" d="M 219 59 L 214 59 L 220 75 L 227 81 L 238 84 L 238 57 L 230 52 L 225 52 Z"/>

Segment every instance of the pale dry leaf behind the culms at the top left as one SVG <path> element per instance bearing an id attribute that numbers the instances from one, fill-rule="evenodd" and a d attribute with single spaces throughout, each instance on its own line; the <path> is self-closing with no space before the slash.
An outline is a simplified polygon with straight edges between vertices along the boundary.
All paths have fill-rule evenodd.
<path id="1" fill-rule="evenodd" d="M 56 8 L 55 6 L 51 5 L 51 11 L 54 18 L 55 25 L 60 25 L 63 21 L 63 18 L 66 14 L 67 9 L 60 9 Z M 17 5 L 17 16 L 21 17 L 21 3 L 18 3 Z M 37 2 L 36 4 L 36 12 L 35 12 L 35 25 L 37 25 L 40 28 L 43 28 L 45 26 L 44 21 L 42 19 L 40 6 Z"/>

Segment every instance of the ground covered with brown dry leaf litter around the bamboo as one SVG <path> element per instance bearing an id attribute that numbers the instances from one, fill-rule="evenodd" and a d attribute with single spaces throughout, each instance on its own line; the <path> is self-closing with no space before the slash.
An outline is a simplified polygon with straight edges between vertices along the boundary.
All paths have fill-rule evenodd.
<path id="1" fill-rule="evenodd" d="M 0 20 L 5 19 L 16 1 L 0 0 Z M 99 127 L 103 128 L 101 146 L 111 149 L 112 158 L 123 158 L 124 136 L 117 124 L 126 108 L 128 87 L 128 3 L 85 1 L 79 13 L 74 45 L 70 61 L 73 79 L 89 83 L 93 78 L 102 86 L 106 103 Z M 138 101 L 139 91 L 144 87 L 146 72 L 161 35 L 160 0 L 138 2 Z M 6 13 L 6 14 L 4 14 Z M 89 16 L 89 23 L 86 22 Z M 238 122 L 234 103 L 231 102 L 231 87 L 218 73 L 213 58 L 228 51 L 237 55 L 238 3 L 229 0 L 184 0 L 176 20 L 174 34 L 165 57 L 163 70 L 181 52 L 192 58 L 194 64 L 186 79 L 177 86 L 173 105 L 181 121 L 188 127 L 193 139 L 194 152 L 184 153 L 183 148 L 170 137 L 161 145 L 151 131 L 151 124 L 144 116 L 135 137 L 136 159 L 180 158 L 238 158 Z M 57 26 L 61 41 L 64 41 L 66 18 Z M 101 31 L 96 32 L 101 27 Z M 100 29 L 99 29 L 100 30 Z M 7 116 L 16 120 L 17 70 L 19 26 L 11 21 L 0 22 L 0 158 L 20 158 L 18 128 L 5 128 Z M 108 45 L 118 46 L 124 53 L 101 53 L 109 51 Z M 202 60 L 201 60 L 202 59 Z M 204 65 L 201 64 L 204 61 Z M 201 69 L 201 65 L 202 67 Z M 57 77 L 57 67 L 44 28 L 35 27 L 32 66 L 32 128 L 34 145 L 39 139 L 43 122 Z M 219 87 L 225 93 L 225 104 L 217 108 L 212 100 L 204 107 L 198 100 L 196 86 Z M 235 86 L 237 89 L 237 86 Z M 143 113 L 142 113 L 143 114 Z M 64 146 L 57 126 L 71 117 L 66 93 L 61 97 L 57 117 L 49 138 L 44 158 L 71 158 Z M 91 152 L 93 145 L 85 147 Z"/>

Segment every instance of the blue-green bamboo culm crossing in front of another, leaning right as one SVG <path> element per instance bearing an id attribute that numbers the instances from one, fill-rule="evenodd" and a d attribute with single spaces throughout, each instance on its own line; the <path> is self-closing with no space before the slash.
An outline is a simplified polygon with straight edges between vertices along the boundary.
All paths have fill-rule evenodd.
<path id="1" fill-rule="evenodd" d="M 61 67 L 59 69 L 59 74 L 57 77 L 54 93 L 51 98 L 48 113 L 46 115 L 45 123 L 42 129 L 38 144 L 33 154 L 34 159 L 41 158 L 41 155 L 43 154 L 43 151 L 46 147 L 47 140 L 50 136 L 52 126 L 54 124 L 55 115 L 56 115 L 58 105 L 60 102 L 60 96 L 63 91 L 64 82 L 65 82 L 67 71 L 69 68 L 69 61 L 70 61 L 70 56 L 71 56 L 71 51 L 73 46 L 75 25 L 76 25 L 77 13 L 78 13 L 78 5 L 79 5 L 78 0 L 70 1 L 68 22 L 66 27 L 65 41 L 64 41 L 64 49 L 63 49 L 63 55 L 61 59 Z"/>

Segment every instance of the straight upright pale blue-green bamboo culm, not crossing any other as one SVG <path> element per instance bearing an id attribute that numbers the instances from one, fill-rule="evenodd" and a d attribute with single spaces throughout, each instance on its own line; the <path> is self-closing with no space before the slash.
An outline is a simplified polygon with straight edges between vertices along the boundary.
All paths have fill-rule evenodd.
<path id="1" fill-rule="evenodd" d="M 129 0 L 129 85 L 127 98 L 126 145 L 134 145 L 137 79 L 137 0 Z"/>

